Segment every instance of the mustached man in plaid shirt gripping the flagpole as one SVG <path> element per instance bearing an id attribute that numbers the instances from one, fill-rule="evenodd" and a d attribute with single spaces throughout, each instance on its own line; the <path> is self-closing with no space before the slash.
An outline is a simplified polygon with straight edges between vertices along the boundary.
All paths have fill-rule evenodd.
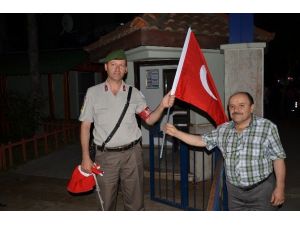
<path id="1" fill-rule="evenodd" d="M 254 101 L 247 92 L 233 94 L 228 109 L 232 120 L 201 136 L 171 124 L 165 132 L 189 145 L 221 150 L 230 210 L 276 210 L 284 202 L 286 173 L 277 127 L 253 114 Z"/>

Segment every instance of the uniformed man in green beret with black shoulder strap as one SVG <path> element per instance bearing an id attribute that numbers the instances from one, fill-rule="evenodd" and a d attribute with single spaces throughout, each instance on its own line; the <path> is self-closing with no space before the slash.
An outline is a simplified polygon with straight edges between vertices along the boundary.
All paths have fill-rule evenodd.
<path id="1" fill-rule="evenodd" d="M 163 111 L 174 104 L 175 97 L 168 93 L 158 107 L 151 111 L 143 94 L 132 87 L 130 104 L 125 116 L 114 130 L 127 100 L 129 85 L 123 78 L 127 73 L 127 59 L 123 50 L 116 50 L 105 58 L 107 79 L 87 90 L 79 120 L 81 123 L 82 169 L 91 172 L 93 161 L 89 156 L 90 127 L 94 123 L 93 144 L 95 162 L 104 176 L 98 178 L 105 210 L 115 210 L 119 182 L 125 210 L 144 210 L 143 154 L 140 145 L 141 130 L 135 114 L 148 125 L 160 119 Z M 107 137 L 112 136 L 107 142 Z M 105 143 L 105 146 L 104 144 Z"/>

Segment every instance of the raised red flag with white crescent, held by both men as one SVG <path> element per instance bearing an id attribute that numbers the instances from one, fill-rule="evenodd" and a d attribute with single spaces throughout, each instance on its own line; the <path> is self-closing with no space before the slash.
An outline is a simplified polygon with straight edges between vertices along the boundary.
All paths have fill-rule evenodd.
<path id="1" fill-rule="evenodd" d="M 195 34 L 189 28 L 171 95 L 205 111 L 217 125 L 228 121 Z"/>

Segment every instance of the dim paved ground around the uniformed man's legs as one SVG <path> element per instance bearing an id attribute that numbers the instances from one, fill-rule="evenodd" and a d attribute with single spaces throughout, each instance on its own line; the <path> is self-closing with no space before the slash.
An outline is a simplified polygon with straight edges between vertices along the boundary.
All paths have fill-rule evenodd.
<path id="1" fill-rule="evenodd" d="M 0 173 L 0 210 L 98 210 L 95 193 L 73 196 L 66 190 L 75 165 L 80 163 L 78 144 L 70 145 L 6 173 Z M 145 178 L 146 210 L 178 210 L 150 200 Z M 123 210 L 119 196 L 117 210 Z"/>

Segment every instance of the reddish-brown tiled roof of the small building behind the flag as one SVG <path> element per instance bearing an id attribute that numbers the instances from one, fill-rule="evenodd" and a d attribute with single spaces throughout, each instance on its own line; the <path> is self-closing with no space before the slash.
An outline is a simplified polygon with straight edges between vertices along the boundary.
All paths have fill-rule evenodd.
<path id="1" fill-rule="evenodd" d="M 128 39 L 130 35 L 132 39 L 130 42 L 135 41 L 135 44 L 122 40 L 122 44 L 119 43 L 117 46 L 123 49 L 151 44 L 182 47 L 189 27 L 201 40 L 203 48 L 218 48 L 219 45 L 228 43 L 229 29 L 226 14 L 145 13 L 100 37 L 98 41 L 86 46 L 85 50 L 91 53 L 105 51 L 109 49 L 108 45 L 118 43 L 121 39 Z M 160 35 L 161 38 L 155 37 Z M 255 28 L 254 36 L 255 41 L 268 42 L 273 39 L 274 34 Z"/>

